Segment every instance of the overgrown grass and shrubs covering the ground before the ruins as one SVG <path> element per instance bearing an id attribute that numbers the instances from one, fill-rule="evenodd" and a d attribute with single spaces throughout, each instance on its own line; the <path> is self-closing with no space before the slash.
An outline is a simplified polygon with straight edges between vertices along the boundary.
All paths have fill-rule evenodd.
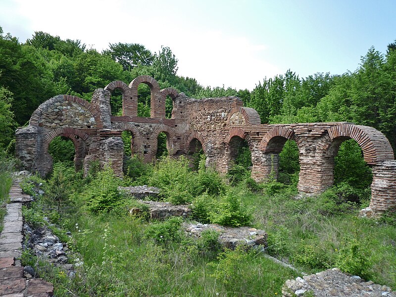
<path id="1" fill-rule="evenodd" d="M 141 168 L 138 161 L 133 166 Z M 48 193 L 59 187 L 51 180 L 59 181 L 52 175 L 45 184 Z M 149 222 L 145 215 L 130 216 L 127 210 L 136 201 L 118 192 L 117 185 L 138 180 L 159 186 L 164 200 L 192 202 L 193 215 L 202 223 L 264 229 L 268 253 L 299 271 L 339 266 L 396 288 L 396 216 L 390 211 L 378 221 L 357 218 L 365 202 L 349 199 L 347 186 L 296 198 L 293 183 L 256 184 L 245 177 L 231 187 L 202 165 L 193 172 L 186 159 L 170 158 L 131 180 L 115 178 L 108 168 L 87 179 L 66 180 L 71 193 L 60 205 L 68 207 L 60 207 L 60 217 L 51 221 L 72 232 L 70 261 L 83 265 L 70 280 L 41 264 L 43 277 L 55 282 L 56 296 L 69 296 L 69 291 L 76 296 L 279 296 L 283 283 L 297 277 L 253 251 L 221 251 L 217 234 L 194 240 L 180 230 L 180 219 Z M 50 211 L 37 202 L 24 210 L 25 217 L 51 217 L 59 200 L 44 200 L 53 204 Z"/>

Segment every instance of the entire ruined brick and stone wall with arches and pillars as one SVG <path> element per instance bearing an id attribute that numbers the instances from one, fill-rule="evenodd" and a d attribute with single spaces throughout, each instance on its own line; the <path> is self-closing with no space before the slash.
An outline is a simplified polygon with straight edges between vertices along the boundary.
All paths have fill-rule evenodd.
<path id="1" fill-rule="evenodd" d="M 137 116 L 138 86 L 151 91 L 149 118 Z M 112 116 L 111 92 L 122 93 L 122 116 Z M 171 119 L 165 118 L 165 99 L 173 101 Z M 362 148 L 364 160 L 373 167 L 370 211 L 380 213 L 396 206 L 394 153 L 378 130 L 346 122 L 260 124 L 252 108 L 237 97 L 191 99 L 173 88 L 159 89 L 149 76 L 139 76 L 129 85 L 115 81 L 94 92 L 92 102 L 59 95 L 41 104 L 29 126 L 16 132 L 16 154 L 23 166 L 45 175 L 51 170 L 49 143 L 56 136 L 68 137 L 76 148 L 75 166 L 88 171 L 92 161 L 111 164 L 122 175 L 121 133 L 130 131 L 132 152 L 145 162 L 155 160 L 157 137 L 167 136 L 171 156 L 192 154 L 202 148 L 206 165 L 226 173 L 244 141 L 251 151 L 252 178 L 276 178 L 279 153 L 287 140 L 297 143 L 300 193 L 317 194 L 333 185 L 334 157 L 343 141 L 354 139 Z"/>

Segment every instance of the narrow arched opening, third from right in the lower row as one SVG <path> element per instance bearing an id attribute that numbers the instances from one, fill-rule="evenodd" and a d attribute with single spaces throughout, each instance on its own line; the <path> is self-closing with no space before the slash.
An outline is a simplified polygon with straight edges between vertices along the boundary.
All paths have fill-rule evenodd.
<path id="1" fill-rule="evenodd" d="M 237 184 L 250 177 L 252 162 L 251 152 L 247 141 L 239 136 L 233 136 L 228 143 L 229 170 L 231 184 Z"/>

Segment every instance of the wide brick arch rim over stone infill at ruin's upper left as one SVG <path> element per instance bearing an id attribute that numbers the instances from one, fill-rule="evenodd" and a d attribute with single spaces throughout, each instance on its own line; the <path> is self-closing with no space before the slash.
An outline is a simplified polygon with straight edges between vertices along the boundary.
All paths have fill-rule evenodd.
<path id="1" fill-rule="evenodd" d="M 56 102 L 59 102 L 61 100 L 64 101 L 70 101 L 74 102 L 77 104 L 80 104 L 81 106 L 84 106 L 86 109 L 88 109 L 91 113 L 92 116 L 95 119 L 96 122 L 96 128 L 97 129 L 102 129 L 103 128 L 103 123 L 102 120 L 100 119 L 99 111 L 92 106 L 92 104 L 84 99 L 81 99 L 77 96 L 72 96 L 72 95 L 59 95 L 54 98 L 48 99 L 44 103 L 40 104 L 40 106 L 33 112 L 32 116 L 30 117 L 29 125 L 32 126 L 39 126 L 39 122 L 41 119 L 41 115 L 45 110 L 48 109 L 48 107 Z"/>

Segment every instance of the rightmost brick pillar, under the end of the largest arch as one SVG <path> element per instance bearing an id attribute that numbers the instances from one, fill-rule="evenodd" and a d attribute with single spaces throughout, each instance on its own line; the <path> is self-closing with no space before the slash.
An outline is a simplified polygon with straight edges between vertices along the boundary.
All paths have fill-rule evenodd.
<path id="1" fill-rule="evenodd" d="M 378 216 L 396 207 L 396 161 L 373 165 L 370 206 L 360 211 L 361 216 Z"/>

